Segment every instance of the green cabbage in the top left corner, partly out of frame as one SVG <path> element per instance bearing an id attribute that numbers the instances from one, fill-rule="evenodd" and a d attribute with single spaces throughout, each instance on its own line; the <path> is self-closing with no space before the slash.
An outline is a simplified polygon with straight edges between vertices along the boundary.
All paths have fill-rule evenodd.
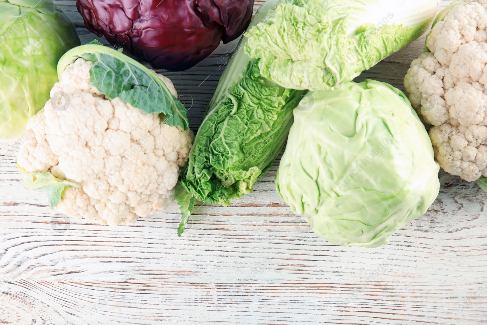
<path id="1" fill-rule="evenodd" d="M 49 100 L 57 61 L 79 45 L 52 0 L 0 0 L 0 141 L 17 140 Z"/>

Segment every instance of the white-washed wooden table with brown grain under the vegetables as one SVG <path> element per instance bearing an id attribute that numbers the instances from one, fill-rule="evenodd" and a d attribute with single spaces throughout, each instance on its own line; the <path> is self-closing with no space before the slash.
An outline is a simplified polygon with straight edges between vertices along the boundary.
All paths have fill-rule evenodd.
<path id="1" fill-rule="evenodd" d="M 74 0 L 56 0 L 91 40 Z M 257 1 L 257 4 L 262 1 Z M 448 1 L 443 1 L 443 6 Z M 257 6 L 256 6 L 257 8 Z M 99 39 L 105 44 L 104 39 Z M 424 37 L 358 79 L 403 89 Z M 174 80 L 196 130 L 236 42 Z M 0 324 L 480 325 L 487 322 L 487 194 L 440 172 L 430 210 L 377 249 L 315 235 L 275 190 L 278 162 L 229 208 L 99 226 L 53 213 L 0 145 Z"/>

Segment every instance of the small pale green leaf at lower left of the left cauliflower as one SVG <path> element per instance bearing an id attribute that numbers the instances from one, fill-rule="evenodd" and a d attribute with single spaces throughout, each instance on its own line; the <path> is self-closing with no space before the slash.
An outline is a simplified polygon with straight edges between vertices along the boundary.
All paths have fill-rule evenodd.
<path id="1" fill-rule="evenodd" d="M 45 193 L 51 209 L 61 202 L 67 188 L 79 187 L 76 183 L 56 178 L 50 172 L 26 172 L 23 168 L 18 169 L 24 177 L 24 188 Z"/>

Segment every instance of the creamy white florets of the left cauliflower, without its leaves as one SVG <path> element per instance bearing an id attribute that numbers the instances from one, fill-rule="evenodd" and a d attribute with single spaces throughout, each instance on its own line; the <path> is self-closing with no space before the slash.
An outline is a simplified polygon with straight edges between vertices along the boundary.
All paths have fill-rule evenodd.
<path id="1" fill-rule="evenodd" d="M 80 185 L 64 191 L 60 212 L 104 225 L 133 224 L 167 208 L 193 135 L 101 94 L 90 82 L 92 65 L 78 58 L 67 66 L 51 90 L 52 97 L 62 95 L 61 103 L 48 101 L 29 120 L 17 161 L 27 172 L 51 172 Z"/>

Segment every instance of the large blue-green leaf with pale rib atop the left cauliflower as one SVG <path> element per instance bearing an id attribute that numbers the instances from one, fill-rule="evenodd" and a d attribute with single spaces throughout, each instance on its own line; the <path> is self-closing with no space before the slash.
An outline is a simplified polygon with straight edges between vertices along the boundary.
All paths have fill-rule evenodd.
<path id="1" fill-rule="evenodd" d="M 105 96 L 120 97 L 147 114 L 161 113 L 164 123 L 189 129 L 186 108 L 155 72 L 115 49 L 94 43 L 78 46 L 61 57 L 58 76 L 78 57 L 93 62 L 90 81 Z"/>

